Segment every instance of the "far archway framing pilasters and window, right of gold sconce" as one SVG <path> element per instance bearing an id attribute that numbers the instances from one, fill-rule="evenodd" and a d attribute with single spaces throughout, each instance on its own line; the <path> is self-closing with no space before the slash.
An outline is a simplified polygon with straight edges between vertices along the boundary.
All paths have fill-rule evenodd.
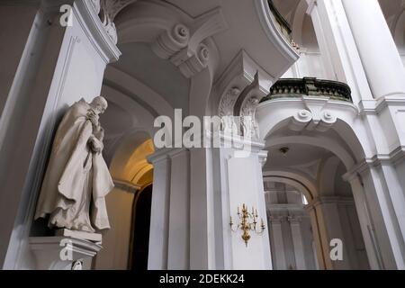
<path id="1" fill-rule="evenodd" d="M 319 224 L 308 210 L 308 202 L 318 194 L 316 187 L 291 171 L 266 171 L 264 185 L 274 268 L 320 269 L 324 255 Z"/>

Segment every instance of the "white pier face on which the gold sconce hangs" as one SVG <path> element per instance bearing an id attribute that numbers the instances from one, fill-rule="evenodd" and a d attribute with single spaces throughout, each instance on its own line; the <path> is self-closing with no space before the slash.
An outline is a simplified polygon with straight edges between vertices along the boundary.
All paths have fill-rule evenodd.
<path id="1" fill-rule="evenodd" d="M 246 140 L 247 141 L 247 140 Z M 229 229 L 229 218 L 238 219 L 238 207 L 247 204 L 249 210 L 254 206 L 263 218 L 266 229 L 266 201 L 263 187 L 262 163 L 267 151 L 262 151 L 264 142 L 252 140 L 244 142 L 247 154 L 240 155 L 237 148 L 220 148 L 220 187 L 221 217 L 223 227 L 223 249 L 225 269 L 272 269 L 270 242 L 265 230 L 262 234 L 250 231 L 247 246 L 242 231 Z M 237 152 L 237 153 L 235 153 Z"/>

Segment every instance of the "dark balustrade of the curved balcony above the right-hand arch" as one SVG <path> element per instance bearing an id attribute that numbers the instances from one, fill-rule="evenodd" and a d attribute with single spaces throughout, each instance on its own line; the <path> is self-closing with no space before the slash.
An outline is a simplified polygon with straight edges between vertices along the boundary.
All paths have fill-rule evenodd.
<path id="1" fill-rule="evenodd" d="M 353 103 L 348 85 L 338 81 L 319 80 L 311 77 L 278 80 L 271 87 L 270 94 L 263 98 L 261 103 L 277 98 L 298 98 L 304 95 L 329 97 L 333 100 Z"/>

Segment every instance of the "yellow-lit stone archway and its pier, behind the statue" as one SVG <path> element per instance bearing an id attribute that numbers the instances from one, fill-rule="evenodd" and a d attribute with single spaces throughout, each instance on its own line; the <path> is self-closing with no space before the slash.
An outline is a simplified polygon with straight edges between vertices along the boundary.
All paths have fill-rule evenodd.
<path id="1" fill-rule="evenodd" d="M 134 238 L 138 237 L 134 234 L 137 230 L 134 216 L 137 215 L 140 202 L 148 205 L 148 199 L 139 201 L 139 197 L 153 183 L 153 166 L 148 163 L 148 156 L 154 151 L 148 133 L 139 131 L 121 140 L 121 145 L 112 157 L 110 171 L 115 188 L 106 198 L 112 229 L 103 236 L 104 249 L 96 258 L 96 269 L 128 269 L 134 262 Z M 142 207 L 140 210 L 150 211 L 150 207 Z M 139 231 L 148 233 L 148 229 Z M 140 235 L 140 238 L 148 238 L 148 235 Z M 147 259 L 139 261 L 144 263 Z"/>

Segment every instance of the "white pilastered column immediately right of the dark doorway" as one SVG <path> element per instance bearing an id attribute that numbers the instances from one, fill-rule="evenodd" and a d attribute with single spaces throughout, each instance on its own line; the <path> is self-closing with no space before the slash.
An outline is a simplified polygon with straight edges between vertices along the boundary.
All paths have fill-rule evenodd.
<path id="1" fill-rule="evenodd" d="M 190 269 L 190 151 L 165 148 L 154 165 L 148 269 Z"/>

